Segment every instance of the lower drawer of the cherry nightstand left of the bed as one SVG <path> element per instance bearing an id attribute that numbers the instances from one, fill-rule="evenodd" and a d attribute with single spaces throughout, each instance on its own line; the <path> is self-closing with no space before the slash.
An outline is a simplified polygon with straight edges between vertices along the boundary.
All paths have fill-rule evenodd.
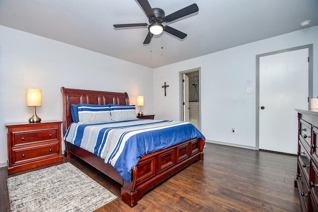
<path id="1" fill-rule="evenodd" d="M 15 163 L 29 160 L 32 158 L 45 157 L 48 155 L 58 154 L 59 142 L 44 143 L 26 148 L 12 149 Z"/>

